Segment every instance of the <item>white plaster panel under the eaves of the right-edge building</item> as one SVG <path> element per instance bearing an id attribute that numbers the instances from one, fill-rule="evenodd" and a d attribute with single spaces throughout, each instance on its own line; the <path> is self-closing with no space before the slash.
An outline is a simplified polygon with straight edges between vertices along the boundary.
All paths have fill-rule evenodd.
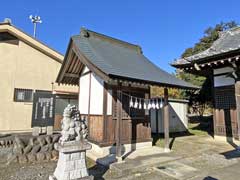
<path id="1" fill-rule="evenodd" d="M 232 72 L 233 68 L 225 67 L 220 69 L 214 69 L 213 74 L 218 75 L 222 73 Z M 235 81 L 231 77 L 226 77 L 226 75 L 220 75 L 214 77 L 214 87 L 229 86 L 235 84 Z"/>

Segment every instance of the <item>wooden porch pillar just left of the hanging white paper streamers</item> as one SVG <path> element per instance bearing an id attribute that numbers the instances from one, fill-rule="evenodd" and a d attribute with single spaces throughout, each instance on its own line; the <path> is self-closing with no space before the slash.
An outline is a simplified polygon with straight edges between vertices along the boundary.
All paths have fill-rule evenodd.
<path id="1" fill-rule="evenodd" d="M 121 129 L 122 129 L 122 93 L 121 85 L 117 90 L 117 124 L 116 124 L 116 155 L 118 161 L 121 161 Z"/>

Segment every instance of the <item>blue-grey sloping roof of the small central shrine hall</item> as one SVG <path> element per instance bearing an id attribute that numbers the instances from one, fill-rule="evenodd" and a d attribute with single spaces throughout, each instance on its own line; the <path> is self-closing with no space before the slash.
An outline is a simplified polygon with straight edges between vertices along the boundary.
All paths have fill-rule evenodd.
<path id="1" fill-rule="evenodd" d="M 72 37 L 80 52 L 108 76 L 143 80 L 175 87 L 197 88 L 160 69 L 133 45 L 90 30 Z"/>

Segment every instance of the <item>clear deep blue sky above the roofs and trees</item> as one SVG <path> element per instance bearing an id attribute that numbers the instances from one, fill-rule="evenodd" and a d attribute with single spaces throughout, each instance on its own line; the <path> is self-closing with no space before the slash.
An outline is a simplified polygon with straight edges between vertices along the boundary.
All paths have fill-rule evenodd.
<path id="1" fill-rule="evenodd" d="M 169 63 L 191 47 L 203 31 L 220 21 L 240 22 L 238 0 L 7 0 L 0 21 L 32 34 L 30 14 L 40 15 L 37 38 L 62 54 L 80 27 L 139 44 L 156 65 L 174 72 Z"/>

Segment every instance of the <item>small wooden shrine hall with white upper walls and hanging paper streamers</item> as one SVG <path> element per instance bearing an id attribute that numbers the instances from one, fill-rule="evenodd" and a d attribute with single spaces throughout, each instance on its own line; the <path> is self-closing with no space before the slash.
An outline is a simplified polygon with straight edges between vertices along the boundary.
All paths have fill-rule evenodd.
<path id="1" fill-rule="evenodd" d="M 57 82 L 79 85 L 89 141 L 99 147 L 116 143 L 119 156 L 121 144 L 152 145 L 149 109 L 160 108 L 161 102 L 150 99 L 150 85 L 197 88 L 159 69 L 138 45 L 87 29 L 71 37 Z"/>

